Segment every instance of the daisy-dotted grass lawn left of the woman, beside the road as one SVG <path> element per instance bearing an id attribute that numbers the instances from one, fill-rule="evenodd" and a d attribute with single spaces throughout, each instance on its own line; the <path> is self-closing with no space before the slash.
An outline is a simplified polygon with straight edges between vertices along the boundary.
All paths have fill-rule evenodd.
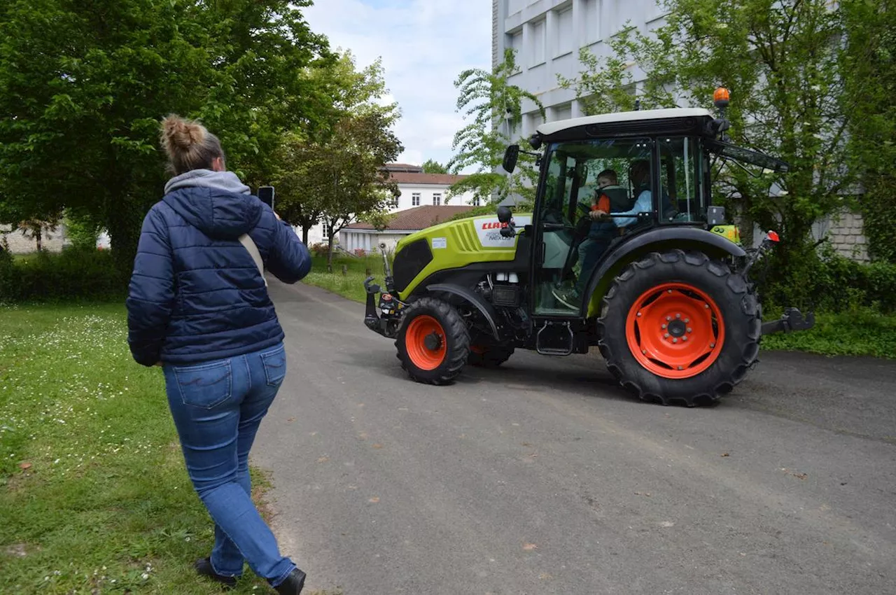
<path id="1" fill-rule="evenodd" d="M 221 592 L 161 371 L 125 340 L 124 306 L 0 306 L 0 593 Z"/>

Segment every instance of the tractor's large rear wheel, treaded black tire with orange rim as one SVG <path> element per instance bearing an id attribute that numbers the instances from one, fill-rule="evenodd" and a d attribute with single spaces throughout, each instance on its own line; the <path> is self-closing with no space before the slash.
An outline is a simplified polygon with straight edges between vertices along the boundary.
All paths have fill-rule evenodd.
<path id="1" fill-rule="evenodd" d="M 666 296 L 667 290 L 659 289 L 666 287 L 678 289 L 668 290 L 669 295 Z M 659 292 L 653 293 L 653 289 L 659 289 Z M 705 297 L 709 301 L 702 299 Z M 661 299 L 668 301 L 661 302 Z M 671 300 L 677 300 L 684 309 L 697 312 L 697 319 L 702 316 L 701 308 L 705 308 L 707 313 L 718 309 L 718 315 L 702 319 L 711 319 L 713 322 L 710 324 L 698 320 L 694 329 L 685 329 L 680 323 L 676 323 L 673 329 L 673 323 L 665 321 L 675 314 L 659 314 L 665 311 L 667 303 L 676 303 Z M 710 301 L 714 302 L 712 306 Z M 650 310 L 651 304 L 656 306 L 655 310 Z M 668 312 L 672 313 L 677 306 L 669 307 L 672 309 Z M 667 326 L 659 327 L 659 323 Z M 657 329 L 653 328 L 654 324 L 658 325 Z M 701 329 L 696 328 L 697 324 Z M 719 327 L 724 335 L 719 335 Z M 660 331 L 659 328 L 668 330 Z M 732 272 L 726 263 L 711 260 L 702 252 L 669 250 L 646 255 L 629 264 L 616 277 L 604 297 L 598 330 L 600 353 L 609 371 L 625 389 L 643 401 L 694 407 L 718 401 L 721 395 L 730 392 L 743 380 L 754 365 L 762 340 L 762 310 L 753 285 Z M 700 358 L 694 360 L 690 367 L 670 364 L 681 356 L 676 351 L 679 347 L 664 342 L 673 341 L 668 334 L 664 334 L 668 331 L 700 331 L 700 334 L 689 335 L 695 341 L 691 341 L 687 348 L 706 344 L 711 347 L 711 351 L 707 351 L 709 355 L 702 356 L 702 361 Z M 721 345 L 716 349 L 719 336 L 722 337 Z M 680 348 L 685 349 L 685 344 L 680 343 Z M 634 349 L 637 349 L 637 354 Z M 693 355 L 686 349 L 684 353 L 686 358 Z M 699 353 L 699 350 L 694 353 Z M 655 371 L 647 366 L 653 366 Z M 702 366 L 707 367 L 702 369 Z M 683 369 L 684 372 L 676 372 Z M 674 377 L 676 374 L 679 377 Z M 687 374 L 694 375 L 681 376 Z"/>

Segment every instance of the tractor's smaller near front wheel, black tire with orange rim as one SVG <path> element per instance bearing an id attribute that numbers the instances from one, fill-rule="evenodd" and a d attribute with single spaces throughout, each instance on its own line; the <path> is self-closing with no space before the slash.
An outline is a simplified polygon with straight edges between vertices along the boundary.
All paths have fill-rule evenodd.
<path id="1" fill-rule="evenodd" d="M 431 331 L 427 335 L 438 335 L 437 349 L 421 344 L 421 326 Z M 449 384 L 461 373 L 470 356 L 470 331 L 453 306 L 435 297 L 420 297 L 401 316 L 395 347 L 401 367 L 413 380 L 423 384 Z"/>

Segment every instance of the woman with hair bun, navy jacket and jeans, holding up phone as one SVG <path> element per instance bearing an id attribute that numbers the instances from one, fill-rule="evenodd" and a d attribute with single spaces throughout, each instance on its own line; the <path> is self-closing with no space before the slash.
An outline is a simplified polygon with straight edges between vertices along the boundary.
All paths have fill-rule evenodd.
<path id="1" fill-rule="evenodd" d="M 128 343 L 139 364 L 164 370 L 187 472 L 215 522 L 211 556 L 196 571 L 232 586 L 245 560 L 276 591 L 297 595 L 305 573 L 280 556 L 250 496 L 249 450 L 286 375 L 286 354 L 266 282 L 240 237 L 286 283 L 305 277 L 311 257 L 227 171 L 204 126 L 168 116 L 161 143 L 175 177 L 143 220 Z"/>

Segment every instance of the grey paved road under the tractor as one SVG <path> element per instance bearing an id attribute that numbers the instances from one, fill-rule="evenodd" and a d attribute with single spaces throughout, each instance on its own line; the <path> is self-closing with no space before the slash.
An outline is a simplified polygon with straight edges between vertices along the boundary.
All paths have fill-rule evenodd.
<path id="1" fill-rule="evenodd" d="M 308 586 L 345 595 L 896 592 L 896 364 L 764 354 L 633 401 L 599 358 L 410 382 L 363 307 L 271 280 L 287 384 L 254 462 Z"/>

